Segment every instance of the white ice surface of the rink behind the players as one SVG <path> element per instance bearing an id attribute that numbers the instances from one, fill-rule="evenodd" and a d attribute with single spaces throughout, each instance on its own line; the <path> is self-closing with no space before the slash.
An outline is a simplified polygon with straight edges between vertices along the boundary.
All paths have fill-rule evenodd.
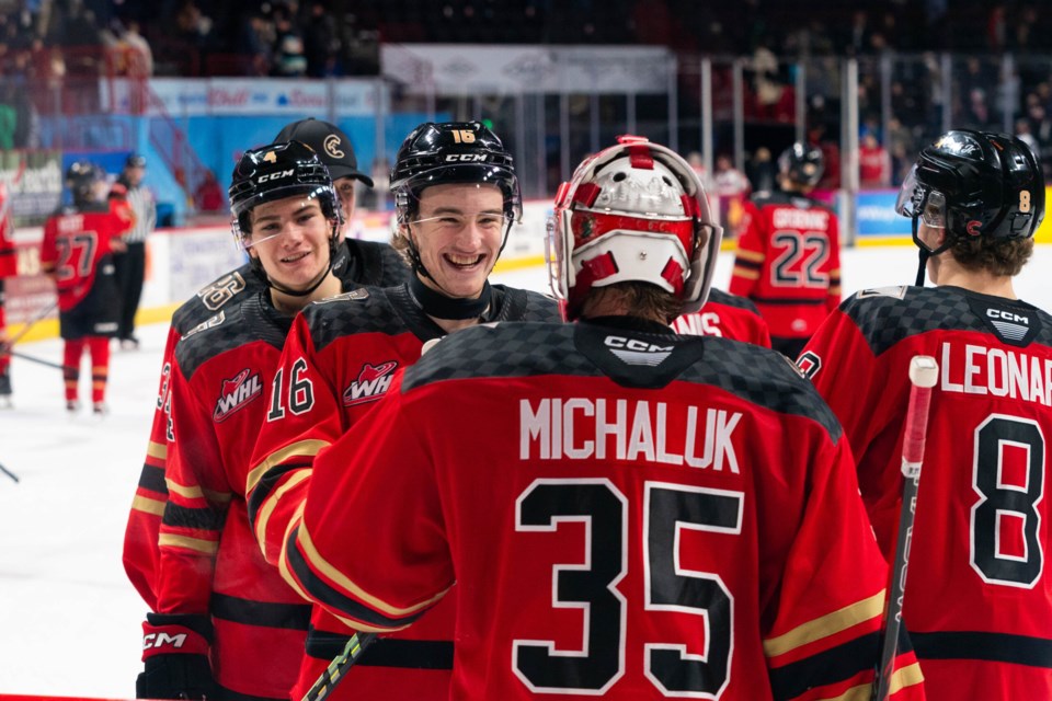
<path id="1" fill-rule="evenodd" d="M 845 292 L 912 283 L 912 246 L 843 254 Z M 1027 301 L 1052 309 L 1052 246 L 1017 280 Z M 725 288 L 731 261 L 720 261 Z M 494 277 L 547 289 L 542 267 Z M 0 693 L 133 698 L 146 606 L 121 564 L 122 540 L 156 403 L 167 327 L 139 330 L 137 352 L 114 350 L 108 416 L 67 416 L 60 372 L 13 361 L 13 410 L 0 410 Z M 19 350 L 60 361 L 59 341 Z M 87 375 L 87 359 L 82 372 Z M 82 377 L 82 397 L 87 377 Z M 265 658 L 265 651 L 259 651 Z"/>

